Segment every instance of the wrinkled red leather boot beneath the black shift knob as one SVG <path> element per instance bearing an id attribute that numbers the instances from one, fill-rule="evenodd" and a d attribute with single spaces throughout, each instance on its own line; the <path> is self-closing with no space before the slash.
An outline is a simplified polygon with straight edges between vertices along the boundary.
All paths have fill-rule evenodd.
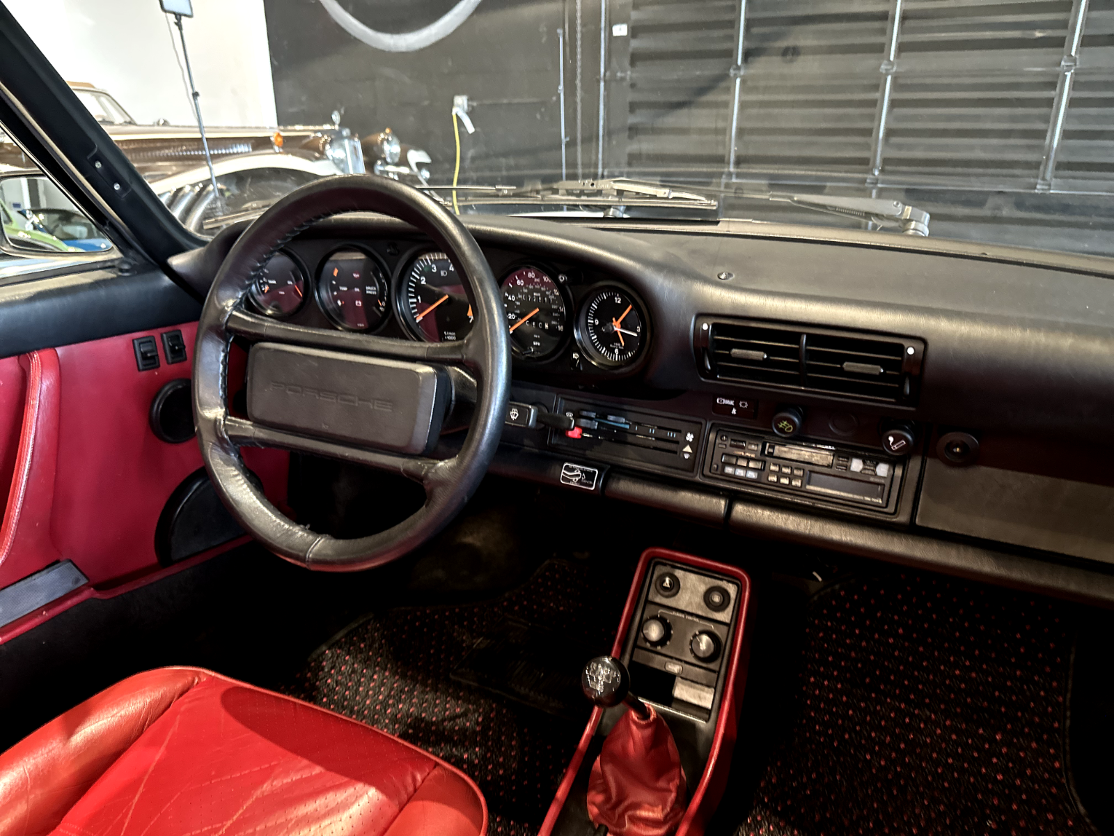
<path id="1" fill-rule="evenodd" d="M 627 711 L 604 740 L 588 778 L 588 815 L 608 836 L 668 836 L 685 813 L 685 774 L 673 732 L 653 707 Z"/>

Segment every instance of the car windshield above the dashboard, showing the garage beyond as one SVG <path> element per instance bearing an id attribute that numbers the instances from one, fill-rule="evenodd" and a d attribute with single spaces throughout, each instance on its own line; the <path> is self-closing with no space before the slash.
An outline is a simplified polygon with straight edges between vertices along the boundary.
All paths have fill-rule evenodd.
<path id="1" fill-rule="evenodd" d="M 63 76 L 184 126 L 109 133 L 205 235 L 367 171 L 460 213 L 1114 255 L 1114 0 L 198 0 L 180 29 L 155 0 L 10 4 Z"/>

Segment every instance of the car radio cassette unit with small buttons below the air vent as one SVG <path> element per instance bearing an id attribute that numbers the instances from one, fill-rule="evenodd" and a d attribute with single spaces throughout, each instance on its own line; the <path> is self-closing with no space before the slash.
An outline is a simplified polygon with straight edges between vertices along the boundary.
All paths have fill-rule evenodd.
<path id="1" fill-rule="evenodd" d="M 886 508 L 902 463 L 860 450 L 713 427 L 704 475 L 761 490 Z"/>

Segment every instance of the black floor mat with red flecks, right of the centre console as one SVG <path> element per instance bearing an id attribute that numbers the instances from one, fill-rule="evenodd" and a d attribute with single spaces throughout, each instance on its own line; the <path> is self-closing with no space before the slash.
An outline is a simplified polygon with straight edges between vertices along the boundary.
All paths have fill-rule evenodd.
<path id="1" fill-rule="evenodd" d="M 1089 836 L 1065 778 L 1072 631 L 1062 605 L 931 575 L 823 593 L 736 836 Z"/>

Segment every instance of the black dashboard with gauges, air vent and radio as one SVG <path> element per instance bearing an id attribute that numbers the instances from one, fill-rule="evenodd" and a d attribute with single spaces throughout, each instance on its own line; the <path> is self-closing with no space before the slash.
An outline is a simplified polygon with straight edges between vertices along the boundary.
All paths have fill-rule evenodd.
<path id="1" fill-rule="evenodd" d="M 1114 563 L 1106 261 L 731 222 L 462 220 L 514 351 L 494 472 L 1071 594 L 1092 582 L 1065 581 L 1065 561 Z M 207 286 L 235 234 L 182 274 Z M 250 295 L 402 339 L 471 324 L 451 260 L 370 215 L 302 232 Z"/>

